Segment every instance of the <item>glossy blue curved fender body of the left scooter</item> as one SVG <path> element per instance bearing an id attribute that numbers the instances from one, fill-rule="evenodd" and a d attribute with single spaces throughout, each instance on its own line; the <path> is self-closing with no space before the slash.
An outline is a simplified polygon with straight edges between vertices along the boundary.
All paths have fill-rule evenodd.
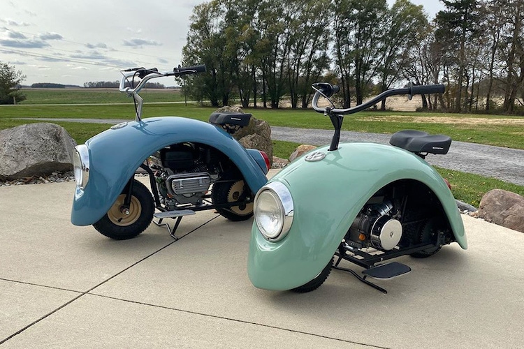
<path id="1" fill-rule="evenodd" d="M 226 154 L 253 193 L 267 181 L 263 158 L 254 159 L 221 128 L 183 117 L 154 117 L 110 128 L 85 142 L 89 148 L 89 182 L 76 188 L 71 223 L 90 225 L 108 211 L 145 159 L 170 144 L 198 142 Z M 260 159 L 261 158 L 261 159 Z"/>

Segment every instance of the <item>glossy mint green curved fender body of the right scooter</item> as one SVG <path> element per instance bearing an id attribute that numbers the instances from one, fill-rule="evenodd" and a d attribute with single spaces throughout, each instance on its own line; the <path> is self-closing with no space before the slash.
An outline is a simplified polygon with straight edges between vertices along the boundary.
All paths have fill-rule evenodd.
<path id="1" fill-rule="evenodd" d="M 393 146 L 344 143 L 321 161 L 305 156 L 286 166 L 271 181 L 280 181 L 293 198 L 291 230 L 269 242 L 252 227 L 248 275 L 266 290 L 291 290 L 314 279 L 330 262 L 351 223 L 374 193 L 400 179 L 420 181 L 440 200 L 458 244 L 467 239 L 456 201 L 444 179 L 422 158 Z"/>

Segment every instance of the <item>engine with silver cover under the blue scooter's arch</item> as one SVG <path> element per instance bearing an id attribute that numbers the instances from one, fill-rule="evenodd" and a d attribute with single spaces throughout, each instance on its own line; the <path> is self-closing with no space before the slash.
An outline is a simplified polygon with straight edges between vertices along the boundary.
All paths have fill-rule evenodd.
<path id="1" fill-rule="evenodd" d="M 174 144 L 150 156 L 161 201 L 166 209 L 201 205 L 211 184 L 219 177 L 219 158 L 213 149 L 198 144 Z"/>

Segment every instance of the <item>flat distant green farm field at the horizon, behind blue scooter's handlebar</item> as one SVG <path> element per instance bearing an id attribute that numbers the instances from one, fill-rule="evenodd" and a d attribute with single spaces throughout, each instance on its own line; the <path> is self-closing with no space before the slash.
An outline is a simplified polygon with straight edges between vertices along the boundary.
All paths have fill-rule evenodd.
<path id="1" fill-rule="evenodd" d="M 29 104 L 85 104 L 129 103 L 131 98 L 118 89 L 22 89 L 27 99 L 20 105 Z M 183 102 L 179 89 L 143 89 L 140 96 L 145 102 Z"/>

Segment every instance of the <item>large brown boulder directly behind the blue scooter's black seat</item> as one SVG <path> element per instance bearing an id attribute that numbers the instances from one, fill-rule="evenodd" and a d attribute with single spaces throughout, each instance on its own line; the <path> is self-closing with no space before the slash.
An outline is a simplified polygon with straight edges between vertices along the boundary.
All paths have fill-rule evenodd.
<path id="1" fill-rule="evenodd" d="M 221 107 L 216 112 L 242 112 L 240 107 Z M 273 144 L 271 142 L 271 128 L 266 121 L 252 117 L 249 125 L 233 133 L 233 138 L 238 140 L 245 148 L 259 149 L 268 155 L 270 163 L 273 158 Z"/>

